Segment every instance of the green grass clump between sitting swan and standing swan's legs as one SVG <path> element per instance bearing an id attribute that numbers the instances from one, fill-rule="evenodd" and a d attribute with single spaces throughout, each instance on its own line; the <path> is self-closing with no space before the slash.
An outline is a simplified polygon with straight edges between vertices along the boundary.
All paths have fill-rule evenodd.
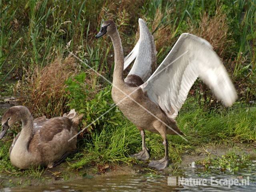
<path id="1" fill-rule="evenodd" d="M 129 154 L 140 150 L 140 132 L 125 120 L 115 128 L 104 126 L 87 136 L 82 142 L 82 151 L 69 163 L 70 168 L 79 169 L 89 164 L 130 162 Z"/>

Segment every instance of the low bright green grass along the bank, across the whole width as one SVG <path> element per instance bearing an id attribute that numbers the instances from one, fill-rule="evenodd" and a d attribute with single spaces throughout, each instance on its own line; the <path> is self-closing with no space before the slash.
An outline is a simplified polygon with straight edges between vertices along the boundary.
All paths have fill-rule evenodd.
<path id="1" fill-rule="evenodd" d="M 191 103 L 193 106 L 191 106 Z M 119 112 L 120 113 L 120 112 Z M 188 142 L 179 136 L 168 136 L 169 156 L 173 164 L 182 162 L 182 154 L 190 154 L 200 146 L 234 144 L 236 142 L 252 143 L 256 140 L 256 107 L 237 104 L 229 110 L 203 110 L 189 99 L 178 118 L 179 127 L 186 134 Z M 8 138 L 8 137 L 7 137 Z M 8 149 L 11 140 L 0 142 L 1 172 L 20 173 L 32 178 L 40 178 L 44 169 L 20 171 L 10 164 Z M 151 158 L 164 155 L 162 138 L 158 134 L 146 131 L 146 145 Z M 122 124 L 111 126 L 105 124 L 78 141 L 78 153 L 67 159 L 70 169 L 79 170 L 88 166 L 140 163 L 129 154 L 141 150 L 141 137 L 137 128 L 125 118 Z"/>

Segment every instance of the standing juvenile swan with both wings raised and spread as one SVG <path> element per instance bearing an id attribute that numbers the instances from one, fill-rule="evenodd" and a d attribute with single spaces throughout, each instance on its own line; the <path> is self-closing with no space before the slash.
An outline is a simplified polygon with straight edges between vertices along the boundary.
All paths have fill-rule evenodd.
<path id="1" fill-rule="evenodd" d="M 231 106 L 237 94 L 210 43 L 188 33 L 180 36 L 152 74 L 156 64 L 154 39 L 142 19 L 139 19 L 139 25 L 140 39 L 125 58 L 125 63 L 121 39 L 113 21 L 103 22 L 96 38 L 107 34 L 113 42 L 115 66 L 112 98 L 142 136 L 142 151 L 133 156 L 139 160 L 148 160 L 150 155 L 144 130 L 159 133 L 164 140 L 165 155 L 161 160 L 151 161 L 149 166 L 164 169 L 169 160 L 166 134 L 182 135 L 174 119 L 195 80 L 198 77 L 202 79 L 225 106 Z M 127 67 L 134 58 L 133 67 L 124 80 L 124 64 Z"/>

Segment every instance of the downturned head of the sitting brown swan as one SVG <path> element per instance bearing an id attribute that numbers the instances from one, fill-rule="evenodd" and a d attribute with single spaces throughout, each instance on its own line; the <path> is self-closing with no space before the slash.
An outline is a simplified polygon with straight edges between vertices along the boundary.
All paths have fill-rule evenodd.
<path id="1" fill-rule="evenodd" d="M 2 129 L 0 132 L 0 139 L 4 137 L 4 135 L 6 134 L 10 126 L 20 121 L 23 114 L 22 112 L 24 110 L 28 110 L 28 109 L 23 106 L 13 106 L 5 112 L 5 114 L 2 117 Z"/>

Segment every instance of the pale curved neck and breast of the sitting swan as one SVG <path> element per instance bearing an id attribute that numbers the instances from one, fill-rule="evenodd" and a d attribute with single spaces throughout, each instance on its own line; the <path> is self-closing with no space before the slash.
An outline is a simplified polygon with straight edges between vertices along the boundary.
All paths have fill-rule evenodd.
<path id="1" fill-rule="evenodd" d="M 22 130 L 10 154 L 12 164 L 18 167 L 33 162 L 35 158 L 33 154 L 28 151 L 28 146 L 33 136 L 33 117 L 28 110 L 20 110 L 20 116 Z"/>

